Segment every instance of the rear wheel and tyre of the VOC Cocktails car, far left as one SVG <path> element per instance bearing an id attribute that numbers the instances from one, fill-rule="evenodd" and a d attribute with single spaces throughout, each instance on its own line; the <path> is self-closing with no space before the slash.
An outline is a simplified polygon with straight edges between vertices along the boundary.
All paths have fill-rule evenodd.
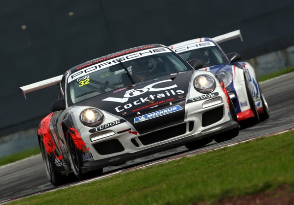
<path id="1" fill-rule="evenodd" d="M 44 142 L 39 139 L 42 159 L 45 167 L 45 172 L 47 175 L 48 180 L 53 186 L 60 186 L 63 184 L 68 183 L 67 176 L 62 175 L 59 173 L 54 167 L 55 165 L 49 160 L 49 156 L 47 154 L 47 151 L 45 149 Z"/>

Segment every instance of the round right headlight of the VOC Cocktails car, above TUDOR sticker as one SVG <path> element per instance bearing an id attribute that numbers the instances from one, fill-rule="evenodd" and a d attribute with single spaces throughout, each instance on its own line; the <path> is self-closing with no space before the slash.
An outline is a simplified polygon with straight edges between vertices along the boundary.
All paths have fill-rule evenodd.
<path id="1" fill-rule="evenodd" d="M 194 87 L 200 93 L 211 93 L 216 88 L 216 81 L 208 75 L 201 75 L 195 78 Z"/>

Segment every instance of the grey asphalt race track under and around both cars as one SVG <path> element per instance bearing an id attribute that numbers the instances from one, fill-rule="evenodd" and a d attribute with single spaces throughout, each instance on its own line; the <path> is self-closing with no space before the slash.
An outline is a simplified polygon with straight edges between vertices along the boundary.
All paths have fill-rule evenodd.
<path id="1" fill-rule="evenodd" d="M 294 128 L 293 82 L 294 72 L 261 82 L 262 92 L 270 107 L 270 119 L 260 122 L 253 127 L 241 129 L 239 135 L 232 140 L 223 143 L 213 141 L 207 146 L 194 151 L 189 151 L 184 146 L 181 146 L 152 154 L 140 159 L 128 161 L 121 166 L 106 167 L 103 170 L 103 176 L 122 173 L 142 166 L 162 163 L 172 158 L 197 154 L 252 138 L 268 136 L 273 133 L 292 129 Z M 55 188 L 47 179 L 40 154 L 0 167 L 0 204 Z"/>

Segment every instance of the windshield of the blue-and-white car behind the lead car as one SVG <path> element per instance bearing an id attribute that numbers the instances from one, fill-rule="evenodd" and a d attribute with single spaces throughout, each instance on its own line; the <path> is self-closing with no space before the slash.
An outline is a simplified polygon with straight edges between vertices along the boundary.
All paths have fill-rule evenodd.
<path id="1" fill-rule="evenodd" d="M 191 49 L 185 52 L 178 53 L 186 61 L 198 59 L 203 63 L 203 67 L 209 67 L 222 63 L 228 63 L 224 54 L 219 51 L 218 47 L 212 42 L 210 46 L 204 48 Z"/>

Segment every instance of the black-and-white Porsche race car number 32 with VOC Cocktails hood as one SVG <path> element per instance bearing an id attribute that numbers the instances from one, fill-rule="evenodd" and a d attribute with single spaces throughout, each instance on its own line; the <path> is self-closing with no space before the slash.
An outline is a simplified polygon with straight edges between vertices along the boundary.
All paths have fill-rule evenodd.
<path id="1" fill-rule="evenodd" d="M 60 185 L 71 173 L 84 179 L 147 154 L 237 136 L 237 116 L 223 81 L 194 68 L 169 48 L 152 44 L 21 87 L 25 98 L 41 88 L 59 88 L 52 112 L 38 128 L 49 181 Z"/>

